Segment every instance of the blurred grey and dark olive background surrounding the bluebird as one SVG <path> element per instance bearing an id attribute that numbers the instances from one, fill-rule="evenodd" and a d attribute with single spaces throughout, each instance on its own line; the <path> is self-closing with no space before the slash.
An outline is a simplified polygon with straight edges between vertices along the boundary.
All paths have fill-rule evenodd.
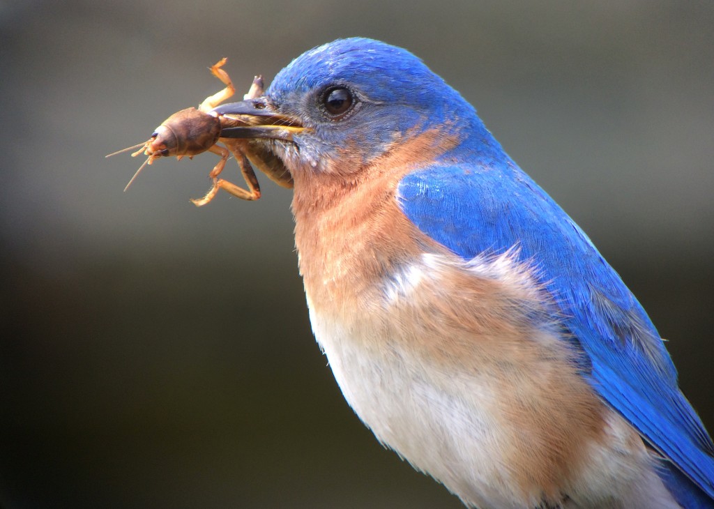
<path id="1" fill-rule="evenodd" d="M 668 338 L 714 429 L 714 4 L 0 0 L 0 506 L 458 508 L 313 341 L 291 192 L 104 155 L 344 36 L 473 103 Z M 226 178 L 241 183 L 235 163 Z"/>

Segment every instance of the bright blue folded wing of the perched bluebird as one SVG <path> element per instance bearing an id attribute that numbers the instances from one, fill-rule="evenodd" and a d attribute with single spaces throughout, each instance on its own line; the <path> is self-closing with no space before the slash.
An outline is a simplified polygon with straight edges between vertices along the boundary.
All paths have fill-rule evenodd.
<path id="1" fill-rule="evenodd" d="M 398 200 L 423 233 L 463 258 L 516 246 L 522 261 L 534 263 L 586 354 L 590 384 L 708 495 L 694 495 L 697 506 L 712 503 L 714 445 L 678 388 L 663 342 L 620 276 L 552 198 L 498 157 L 410 173 Z M 675 470 L 662 478 L 686 482 Z"/>

